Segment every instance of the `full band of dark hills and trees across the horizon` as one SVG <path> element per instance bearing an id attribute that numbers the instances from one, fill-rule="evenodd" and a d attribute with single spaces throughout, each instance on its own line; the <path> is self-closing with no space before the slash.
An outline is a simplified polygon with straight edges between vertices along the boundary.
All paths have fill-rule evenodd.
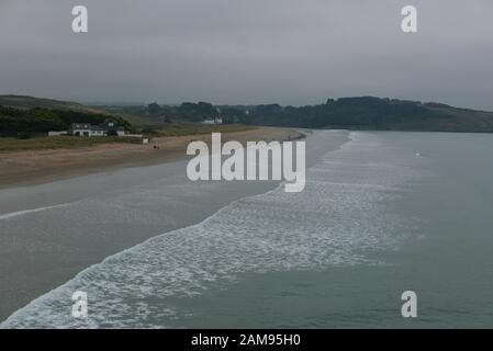
<path id="1" fill-rule="evenodd" d="M 223 123 L 283 127 L 493 133 L 493 112 L 374 97 L 328 99 L 300 107 L 213 106 L 206 102 L 92 107 L 52 99 L 0 95 L 0 135 L 58 131 L 70 122 L 98 123 L 108 117 L 132 128 L 131 124 L 166 127 L 170 122 L 197 123 L 215 116 L 222 117 Z"/>

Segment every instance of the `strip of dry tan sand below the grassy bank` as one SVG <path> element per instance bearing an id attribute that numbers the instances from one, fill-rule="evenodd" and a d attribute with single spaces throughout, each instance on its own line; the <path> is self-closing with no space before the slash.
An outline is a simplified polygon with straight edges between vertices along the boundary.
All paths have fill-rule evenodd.
<path id="1" fill-rule="evenodd" d="M 222 134 L 225 141 L 234 139 L 240 143 L 298 137 L 300 133 L 295 129 L 274 127 Z M 186 157 L 187 145 L 191 140 L 210 143 L 211 135 L 158 137 L 148 145 L 122 143 L 78 149 L 0 152 L 0 188 L 40 184 L 74 176 L 179 160 Z"/>

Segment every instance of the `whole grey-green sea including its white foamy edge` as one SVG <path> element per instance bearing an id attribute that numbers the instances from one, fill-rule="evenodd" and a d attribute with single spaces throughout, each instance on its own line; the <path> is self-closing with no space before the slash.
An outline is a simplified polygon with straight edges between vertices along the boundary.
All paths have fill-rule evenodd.
<path id="1" fill-rule="evenodd" d="M 492 327 L 493 136 L 350 139 L 307 170 L 303 192 L 234 201 L 90 267 L 0 327 Z M 417 318 L 401 316 L 408 290 Z M 76 291 L 87 318 L 71 315 Z"/>

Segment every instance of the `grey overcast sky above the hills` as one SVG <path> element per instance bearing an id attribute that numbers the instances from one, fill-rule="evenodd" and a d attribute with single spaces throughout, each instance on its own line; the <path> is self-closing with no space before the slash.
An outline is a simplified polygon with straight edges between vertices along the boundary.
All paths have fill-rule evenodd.
<path id="1" fill-rule="evenodd" d="M 71 32 L 71 8 L 89 33 Z M 418 10 L 418 33 L 401 9 Z M 493 110 L 492 0 L 0 0 L 0 94 Z"/>

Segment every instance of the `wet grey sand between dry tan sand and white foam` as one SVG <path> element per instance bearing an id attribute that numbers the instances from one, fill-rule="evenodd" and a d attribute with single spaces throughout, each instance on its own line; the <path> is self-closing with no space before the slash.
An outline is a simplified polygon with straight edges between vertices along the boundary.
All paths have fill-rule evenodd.
<path id="1" fill-rule="evenodd" d="M 309 133 L 306 166 L 314 166 L 323 155 L 349 140 L 347 132 Z M 124 169 L 113 177 L 98 173 L 0 191 L 0 205 L 19 206 L 12 211 L 26 205 L 32 208 L 0 218 L 0 226 L 7 229 L 0 245 L 0 325 L 108 257 L 199 224 L 228 204 L 266 193 L 280 183 L 190 182 L 183 173 L 186 163 Z M 74 186 L 89 193 L 79 199 Z M 51 203 L 41 203 L 47 200 L 48 192 Z M 77 199 L 69 199 L 74 196 Z"/>

